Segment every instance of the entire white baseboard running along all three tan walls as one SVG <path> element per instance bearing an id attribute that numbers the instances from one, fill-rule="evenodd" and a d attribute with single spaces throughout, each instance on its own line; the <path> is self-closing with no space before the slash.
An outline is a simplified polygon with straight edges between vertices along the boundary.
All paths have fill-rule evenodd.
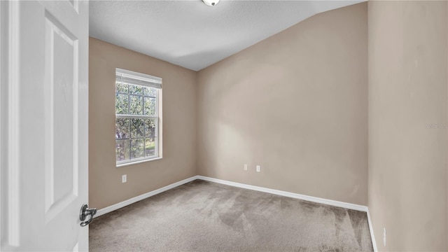
<path id="1" fill-rule="evenodd" d="M 188 179 L 184 179 L 183 181 L 179 181 L 176 183 L 172 183 L 169 186 L 165 186 L 162 187 L 160 189 L 157 190 L 153 190 L 149 193 L 145 193 L 143 195 L 139 195 L 137 197 L 133 197 L 129 200 L 125 200 L 123 202 L 117 203 L 117 204 L 113 204 L 110 207 L 105 207 L 103 209 L 99 209 L 97 211 L 97 214 L 94 216 L 99 217 L 102 216 L 104 214 L 110 213 L 111 211 L 115 211 L 117 209 L 120 209 L 122 207 L 126 207 L 127 205 L 130 205 L 132 203 L 138 202 L 140 200 L 144 200 L 148 197 L 151 197 L 153 195 L 158 195 L 159 193 L 163 193 L 166 190 L 175 188 L 177 186 L 181 186 L 185 183 L 194 181 L 196 179 L 201 179 L 203 181 L 210 181 L 210 182 L 214 182 L 214 183 L 221 183 L 223 185 L 228 185 L 228 186 L 235 186 L 237 188 L 244 188 L 244 189 L 249 189 L 249 190 L 256 190 L 262 193 L 272 193 L 274 195 L 281 195 L 281 196 L 285 196 L 285 197 L 292 197 L 295 199 L 299 199 L 299 200 L 307 200 L 309 202 L 316 202 L 316 203 L 321 203 L 321 204 L 328 204 L 331 206 L 335 206 L 335 207 L 343 207 L 345 209 L 352 209 L 352 210 L 356 210 L 356 211 L 365 211 L 367 213 L 367 221 L 369 223 L 369 228 L 370 228 L 370 236 L 372 237 L 372 245 L 373 245 L 373 249 L 375 252 L 378 251 L 377 249 L 377 243 L 374 239 L 374 235 L 373 235 L 373 228 L 372 228 L 372 222 L 370 221 L 370 214 L 369 214 L 369 209 L 367 208 L 367 206 L 363 206 L 363 205 L 358 205 L 358 204 L 351 204 L 351 203 L 347 203 L 347 202 L 339 202 L 336 200 L 327 200 L 327 199 L 323 199 L 320 197 L 313 197 L 313 196 L 307 196 L 307 195 L 301 195 L 298 193 L 290 193 L 290 192 L 285 192 L 282 190 L 274 190 L 274 189 L 269 189 L 269 188 L 262 188 L 260 186 L 251 186 L 251 185 L 247 185 L 244 183 L 236 183 L 236 182 L 232 182 L 232 181 L 225 181 L 222 179 L 214 179 L 214 178 L 210 178 L 207 176 L 193 176 L 191 178 Z"/>

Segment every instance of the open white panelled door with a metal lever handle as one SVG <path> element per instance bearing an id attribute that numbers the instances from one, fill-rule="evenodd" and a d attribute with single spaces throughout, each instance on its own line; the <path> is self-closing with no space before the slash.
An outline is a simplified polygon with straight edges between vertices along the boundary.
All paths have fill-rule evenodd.
<path id="1" fill-rule="evenodd" d="M 87 251 L 88 2 L 0 13 L 0 250 Z"/>

